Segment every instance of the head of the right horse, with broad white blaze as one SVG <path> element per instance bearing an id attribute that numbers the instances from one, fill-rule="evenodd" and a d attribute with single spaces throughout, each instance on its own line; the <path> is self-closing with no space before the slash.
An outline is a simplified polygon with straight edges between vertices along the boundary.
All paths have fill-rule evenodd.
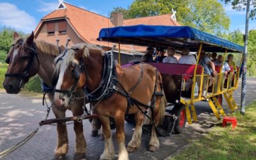
<path id="1" fill-rule="evenodd" d="M 67 50 L 65 56 L 61 54 L 55 59 L 58 61 L 55 71 L 59 76 L 54 95 L 57 104 L 67 107 L 74 100 L 76 91 L 86 85 L 83 62 L 85 51 L 88 52 L 86 45 L 75 45 Z"/>

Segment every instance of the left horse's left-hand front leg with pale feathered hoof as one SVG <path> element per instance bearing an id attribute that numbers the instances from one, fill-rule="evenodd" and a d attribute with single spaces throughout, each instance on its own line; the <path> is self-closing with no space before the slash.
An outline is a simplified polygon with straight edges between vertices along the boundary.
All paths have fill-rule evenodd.
<path id="1" fill-rule="evenodd" d="M 55 106 L 52 104 L 52 111 L 56 118 L 65 118 L 65 112 L 67 109 L 60 108 L 60 106 Z M 67 125 L 65 122 L 61 122 L 57 124 L 57 147 L 55 149 L 54 156 L 57 159 L 63 159 L 68 152 L 68 133 L 67 133 Z"/>

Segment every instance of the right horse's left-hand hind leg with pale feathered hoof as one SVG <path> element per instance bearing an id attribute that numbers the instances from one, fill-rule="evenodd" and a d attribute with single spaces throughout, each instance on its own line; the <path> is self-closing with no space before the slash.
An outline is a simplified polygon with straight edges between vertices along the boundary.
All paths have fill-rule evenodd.
<path id="1" fill-rule="evenodd" d="M 128 152 L 134 152 L 134 150 L 138 149 L 141 144 L 141 133 L 142 133 L 142 125 L 143 125 L 143 113 L 139 111 L 135 114 L 135 131 L 132 135 L 132 140 L 128 143 L 127 151 Z"/>

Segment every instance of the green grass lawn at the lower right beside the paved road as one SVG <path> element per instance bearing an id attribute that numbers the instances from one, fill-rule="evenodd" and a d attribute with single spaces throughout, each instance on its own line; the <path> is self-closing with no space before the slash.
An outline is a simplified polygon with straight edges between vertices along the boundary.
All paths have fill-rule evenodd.
<path id="1" fill-rule="evenodd" d="M 218 124 L 172 159 L 256 159 L 256 102 L 246 106 L 246 115 L 233 113 L 237 127 Z"/>

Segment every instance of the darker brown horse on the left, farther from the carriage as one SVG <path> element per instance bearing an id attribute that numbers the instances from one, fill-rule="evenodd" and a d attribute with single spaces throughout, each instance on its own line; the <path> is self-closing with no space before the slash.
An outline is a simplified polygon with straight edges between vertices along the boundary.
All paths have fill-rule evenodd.
<path id="1" fill-rule="evenodd" d="M 6 63 L 9 63 L 3 83 L 6 92 L 19 93 L 20 88 L 35 74 L 38 74 L 45 84 L 52 87 L 52 75 L 55 69 L 54 58 L 59 55 L 59 48 L 41 40 L 34 40 L 33 33 L 25 39 L 20 38 L 18 33 L 14 33 L 13 40 L 14 43 L 6 58 Z M 67 108 L 72 110 L 74 116 L 83 114 L 83 99 L 76 100 L 72 105 L 63 108 L 60 104 L 54 103 L 53 93 L 48 93 L 47 95 L 56 118 L 64 118 Z M 83 90 L 77 90 L 77 96 L 83 97 Z M 57 131 L 58 140 L 55 156 L 61 158 L 68 152 L 68 136 L 65 122 L 57 124 Z M 76 132 L 75 157 L 76 159 L 84 158 L 86 141 L 83 134 L 83 124 L 75 122 L 74 131 Z"/>

